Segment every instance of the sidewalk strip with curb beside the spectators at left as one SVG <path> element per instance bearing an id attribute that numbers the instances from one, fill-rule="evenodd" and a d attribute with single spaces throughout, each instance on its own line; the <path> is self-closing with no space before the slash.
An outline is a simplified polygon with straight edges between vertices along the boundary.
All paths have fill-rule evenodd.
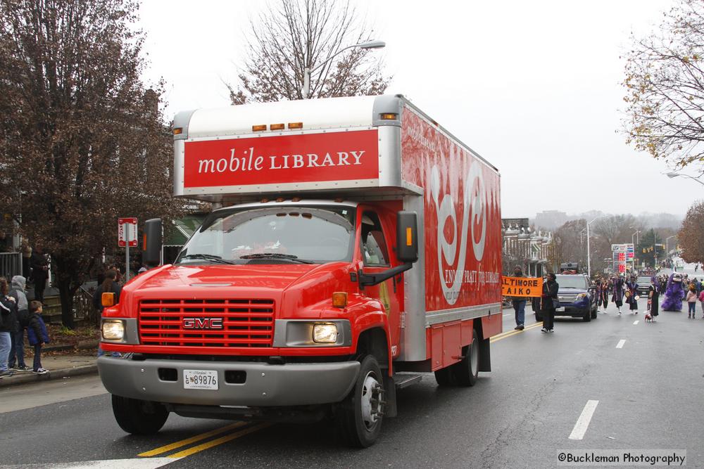
<path id="1" fill-rule="evenodd" d="M 13 385 L 96 374 L 98 373 L 97 358 L 94 354 L 85 354 L 85 351 L 79 352 L 79 354 L 42 356 L 42 366 L 49 370 L 49 373 L 37 375 L 31 371 L 15 371 L 14 375 L 0 379 L 0 390 Z M 26 361 L 27 365 L 32 365 L 31 356 Z"/>

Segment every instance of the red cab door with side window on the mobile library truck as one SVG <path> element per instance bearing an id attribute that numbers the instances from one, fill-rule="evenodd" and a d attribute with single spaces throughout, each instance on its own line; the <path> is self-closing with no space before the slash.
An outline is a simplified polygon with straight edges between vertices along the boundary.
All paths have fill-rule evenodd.
<path id="1" fill-rule="evenodd" d="M 384 226 L 377 212 L 363 208 L 360 224 L 360 255 L 363 271 L 376 274 L 388 270 L 393 265 L 389 250 L 395 231 L 392 226 Z M 400 276 L 389 278 L 377 285 L 367 285 L 360 293 L 376 298 L 382 303 L 389 319 L 389 335 L 391 337 L 391 354 L 398 354 L 398 342 L 401 338 L 400 300 L 402 283 Z"/>

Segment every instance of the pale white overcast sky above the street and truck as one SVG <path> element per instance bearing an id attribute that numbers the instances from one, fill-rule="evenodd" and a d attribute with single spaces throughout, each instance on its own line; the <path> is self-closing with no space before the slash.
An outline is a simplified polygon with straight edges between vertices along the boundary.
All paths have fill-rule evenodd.
<path id="1" fill-rule="evenodd" d="M 274 1 L 274 0 L 272 0 Z M 401 93 L 502 174 L 503 217 L 542 210 L 684 214 L 696 181 L 617 134 L 629 34 L 647 34 L 670 0 L 353 0 L 386 41 Z M 145 0 L 148 79 L 167 82 L 167 115 L 228 105 L 249 18 L 264 1 Z"/>

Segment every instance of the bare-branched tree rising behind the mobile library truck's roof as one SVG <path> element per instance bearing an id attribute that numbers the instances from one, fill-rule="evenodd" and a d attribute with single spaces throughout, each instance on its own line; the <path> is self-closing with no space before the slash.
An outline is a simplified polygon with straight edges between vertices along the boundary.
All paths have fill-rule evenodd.
<path id="1" fill-rule="evenodd" d="M 230 99 L 302 99 L 306 68 L 313 70 L 308 98 L 382 94 L 391 79 L 382 72 L 382 58 L 370 49 L 344 50 L 372 34 L 348 1 L 279 0 L 251 22 L 240 84 L 226 84 Z"/>

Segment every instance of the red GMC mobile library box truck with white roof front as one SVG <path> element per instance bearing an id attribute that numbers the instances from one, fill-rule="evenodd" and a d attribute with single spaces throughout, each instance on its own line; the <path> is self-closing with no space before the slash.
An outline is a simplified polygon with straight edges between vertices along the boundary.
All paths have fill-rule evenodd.
<path id="1" fill-rule="evenodd" d="M 170 412 L 334 418 L 369 446 L 419 373 L 471 386 L 491 370 L 499 173 L 403 96 L 180 113 L 173 177 L 215 209 L 103 313 L 120 356 L 99 372 L 125 431 Z M 144 236 L 158 264 L 161 221 Z"/>

